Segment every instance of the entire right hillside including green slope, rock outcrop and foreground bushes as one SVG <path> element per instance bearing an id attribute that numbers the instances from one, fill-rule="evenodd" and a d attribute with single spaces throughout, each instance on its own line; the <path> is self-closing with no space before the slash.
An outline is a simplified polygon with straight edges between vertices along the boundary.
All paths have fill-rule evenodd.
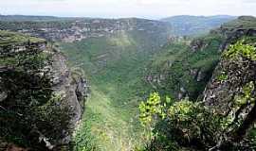
<path id="1" fill-rule="evenodd" d="M 255 21 L 242 16 L 155 54 L 145 72 L 155 92 L 139 106 L 153 137 L 141 150 L 255 149 Z"/>

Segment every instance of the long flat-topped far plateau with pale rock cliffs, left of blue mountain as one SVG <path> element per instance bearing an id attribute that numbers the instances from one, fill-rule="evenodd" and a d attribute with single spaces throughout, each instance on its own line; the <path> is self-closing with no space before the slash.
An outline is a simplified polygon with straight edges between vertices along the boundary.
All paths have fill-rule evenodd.
<path id="1" fill-rule="evenodd" d="M 58 18 L 48 16 L 0 16 L 0 29 L 25 33 L 48 41 L 75 42 L 99 38 L 119 31 L 147 31 L 155 35 L 171 33 L 164 22 L 138 19 Z M 162 31 L 165 32 L 162 32 Z"/>

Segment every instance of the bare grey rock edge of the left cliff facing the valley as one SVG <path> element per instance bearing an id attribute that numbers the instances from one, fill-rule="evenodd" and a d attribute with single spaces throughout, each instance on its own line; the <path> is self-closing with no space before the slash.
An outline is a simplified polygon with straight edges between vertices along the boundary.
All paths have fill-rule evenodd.
<path id="1" fill-rule="evenodd" d="M 72 76 L 70 69 L 66 66 L 64 56 L 58 52 L 54 53 L 52 62 L 52 89 L 55 93 L 62 95 L 62 105 L 70 109 L 72 118 L 70 119 L 70 128 L 75 128 L 77 122 L 82 118 L 84 100 L 88 94 L 88 83 L 82 76 Z M 69 143 L 70 134 L 61 143 Z"/>

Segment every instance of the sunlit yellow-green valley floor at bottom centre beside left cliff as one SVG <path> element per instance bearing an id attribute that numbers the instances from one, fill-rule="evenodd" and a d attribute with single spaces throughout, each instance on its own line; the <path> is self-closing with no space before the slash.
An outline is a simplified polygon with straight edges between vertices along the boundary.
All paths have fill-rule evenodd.
<path id="1" fill-rule="evenodd" d="M 139 142 L 133 132 L 132 116 L 129 110 L 113 107 L 111 96 L 91 88 L 91 96 L 86 104 L 84 120 L 88 118 L 91 134 L 96 136 L 97 145 L 102 151 L 130 151 Z M 135 136 L 136 135 L 136 136 Z"/>

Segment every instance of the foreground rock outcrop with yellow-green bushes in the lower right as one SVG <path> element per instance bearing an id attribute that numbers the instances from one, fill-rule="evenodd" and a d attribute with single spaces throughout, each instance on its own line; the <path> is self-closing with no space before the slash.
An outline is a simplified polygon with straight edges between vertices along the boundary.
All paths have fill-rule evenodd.
<path id="1" fill-rule="evenodd" d="M 255 23 L 253 17 L 239 17 L 211 31 L 210 36 L 221 33 L 219 49 L 214 50 L 220 55 L 197 100 L 153 93 L 140 104 L 140 122 L 151 140 L 142 150 L 255 150 Z M 202 51 L 206 50 L 192 52 L 198 57 Z M 198 70 L 191 74 L 198 76 Z"/>

